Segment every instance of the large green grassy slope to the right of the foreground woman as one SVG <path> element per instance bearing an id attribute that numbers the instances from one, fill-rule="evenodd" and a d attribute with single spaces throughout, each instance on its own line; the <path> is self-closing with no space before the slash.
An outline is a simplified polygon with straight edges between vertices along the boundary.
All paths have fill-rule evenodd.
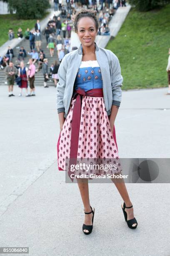
<path id="1" fill-rule="evenodd" d="M 132 8 L 107 44 L 120 61 L 122 90 L 168 86 L 169 15 L 170 5 L 146 13 Z"/>

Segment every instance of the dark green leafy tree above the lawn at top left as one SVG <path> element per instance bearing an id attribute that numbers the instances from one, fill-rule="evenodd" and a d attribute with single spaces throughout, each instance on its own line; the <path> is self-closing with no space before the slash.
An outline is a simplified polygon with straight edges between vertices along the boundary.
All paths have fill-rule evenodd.
<path id="1" fill-rule="evenodd" d="M 9 10 L 16 10 L 20 19 L 40 19 L 50 7 L 48 0 L 5 0 Z"/>

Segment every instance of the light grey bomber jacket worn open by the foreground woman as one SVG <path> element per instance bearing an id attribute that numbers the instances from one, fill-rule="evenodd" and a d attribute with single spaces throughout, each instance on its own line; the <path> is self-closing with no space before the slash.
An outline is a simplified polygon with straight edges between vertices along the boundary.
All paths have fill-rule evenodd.
<path id="1" fill-rule="evenodd" d="M 97 46 L 95 43 L 95 56 L 100 65 L 103 98 L 107 115 L 111 113 L 112 105 L 120 106 L 122 99 L 122 82 L 120 63 L 117 56 L 110 50 Z M 57 113 L 65 112 L 67 117 L 74 89 L 74 82 L 82 61 L 82 45 L 77 50 L 64 56 L 58 69 L 59 82 L 57 82 Z"/>

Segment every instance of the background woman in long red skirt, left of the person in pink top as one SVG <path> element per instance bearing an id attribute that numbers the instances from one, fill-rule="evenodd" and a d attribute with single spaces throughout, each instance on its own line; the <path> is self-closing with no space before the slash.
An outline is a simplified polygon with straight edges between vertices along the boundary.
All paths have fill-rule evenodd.
<path id="1" fill-rule="evenodd" d="M 23 88 L 26 90 L 26 96 L 28 96 L 28 68 L 25 67 L 24 61 L 20 61 L 20 68 L 18 69 L 18 77 L 21 77 L 21 86 L 19 97 L 22 96 Z"/>

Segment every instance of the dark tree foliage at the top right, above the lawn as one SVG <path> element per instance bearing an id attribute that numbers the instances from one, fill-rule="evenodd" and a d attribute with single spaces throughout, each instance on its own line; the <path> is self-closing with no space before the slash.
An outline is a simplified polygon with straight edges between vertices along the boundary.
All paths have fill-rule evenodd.
<path id="1" fill-rule="evenodd" d="M 148 11 L 170 3 L 170 0 L 129 0 L 140 11 Z"/>

